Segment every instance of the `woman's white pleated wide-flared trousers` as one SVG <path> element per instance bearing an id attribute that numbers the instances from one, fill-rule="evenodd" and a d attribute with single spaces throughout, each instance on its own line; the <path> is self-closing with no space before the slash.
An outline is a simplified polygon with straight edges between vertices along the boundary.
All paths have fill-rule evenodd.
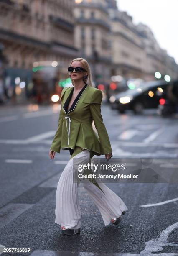
<path id="1" fill-rule="evenodd" d="M 56 189 L 56 219 L 55 223 L 67 228 L 76 229 L 81 227 L 81 211 L 79 205 L 78 187 L 74 177 L 79 174 L 76 164 L 87 164 L 90 153 L 85 149 L 72 157 L 65 166 Z M 73 165 L 73 159 L 74 165 Z M 78 161 L 78 162 L 77 162 Z M 82 172 L 80 172 L 82 173 Z M 84 188 L 92 198 L 94 204 L 99 209 L 104 225 L 108 225 L 112 218 L 119 217 L 127 206 L 122 199 L 116 195 L 104 183 L 99 183 L 99 189 L 88 179 L 83 183 Z"/>

